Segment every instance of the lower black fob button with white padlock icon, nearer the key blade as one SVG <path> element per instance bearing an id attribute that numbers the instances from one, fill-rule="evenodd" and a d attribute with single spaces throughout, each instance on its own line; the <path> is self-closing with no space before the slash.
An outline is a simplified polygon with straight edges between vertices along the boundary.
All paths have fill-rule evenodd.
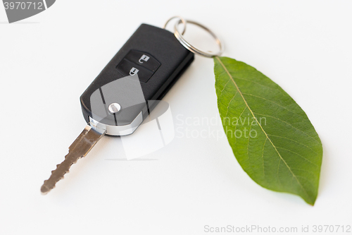
<path id="1" fill-rule="evenodd" d="M 142 66 L 132 63 L 127 59 L 122 59 L 120 64 L 116 67 L 123 76 L 134 76 L 138 74 L 139 81 L 146 83 L 151 76 L 153 76 L 153 72 L 149 71 Z"/>

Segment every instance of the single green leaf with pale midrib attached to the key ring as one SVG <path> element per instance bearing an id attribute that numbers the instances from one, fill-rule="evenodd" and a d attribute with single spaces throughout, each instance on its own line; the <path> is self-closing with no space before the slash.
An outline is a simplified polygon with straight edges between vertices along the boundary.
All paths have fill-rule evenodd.
<path id="1" fill-rule="evenodd" d="M 214 62 L 222 126 L 241 167 L 260 186 L 314 205 L 322 143 L 306 113 L 256 68 L 227 57 Z"/>

